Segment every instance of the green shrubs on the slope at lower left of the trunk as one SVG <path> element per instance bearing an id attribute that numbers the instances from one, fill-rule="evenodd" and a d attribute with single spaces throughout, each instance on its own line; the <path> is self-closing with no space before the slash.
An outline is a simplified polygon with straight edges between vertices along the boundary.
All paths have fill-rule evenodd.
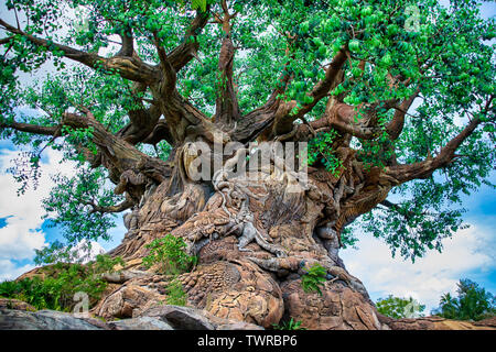
<path id="1" fill-rule="evenodd" d="M 114 271 L 122 260 L 98 255 L 96 261 L 83 264 L 57 263 L 43 268 L 45 278 L 34 276 L 20 280 L 0 283 L 0 296 L 23 300 L 36 309 L 69 311 L 76 293 L 86 293 L 89 302 L 95 304 L 107 283 L 100 278 L 101 273 Z"/>

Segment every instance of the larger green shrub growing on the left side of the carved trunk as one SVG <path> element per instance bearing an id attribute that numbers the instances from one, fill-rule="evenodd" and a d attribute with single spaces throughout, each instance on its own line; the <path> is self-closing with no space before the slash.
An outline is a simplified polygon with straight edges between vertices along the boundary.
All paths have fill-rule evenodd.
<path id="1" fill-rule="evenodd" d="M 172 234 L 155 239 L 145 248 L 150 250 L 150 254 L 143 257 L 143 265 L 152 267 L 157 264 L 163 274 L 184 273 L 197 261 L 196 256 L 185 253 L 186 243 L 184 240 Z"/>

